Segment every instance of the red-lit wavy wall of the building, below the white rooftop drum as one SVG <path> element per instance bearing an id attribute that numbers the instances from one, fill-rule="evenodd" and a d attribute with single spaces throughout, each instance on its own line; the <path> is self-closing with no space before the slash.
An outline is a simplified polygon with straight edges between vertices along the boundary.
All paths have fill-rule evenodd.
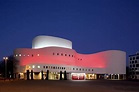
<path id="1" fill-rule="evenodd" d="M 21 66 L 28 64 L 57 64 L 93 68 L 94 73 L 101 74 L 126 73 L 126 53 L 118 50 L 85 55 L 78 54 L 72 49 L 46 47 L 40 49 L 16 49 L 14 54 L 18 54 L 16 59 L 20 61 Z M 19 54 L 22 55 L 19 56 Z"/>

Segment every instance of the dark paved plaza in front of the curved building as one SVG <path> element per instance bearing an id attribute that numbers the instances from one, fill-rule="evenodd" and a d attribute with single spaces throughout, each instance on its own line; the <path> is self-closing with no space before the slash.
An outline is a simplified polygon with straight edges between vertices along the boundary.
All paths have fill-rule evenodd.
<path id="1" fill-rule="evenodd" d="M 139 81 L 1 80 L 0 92 L 139 92 Z"/>

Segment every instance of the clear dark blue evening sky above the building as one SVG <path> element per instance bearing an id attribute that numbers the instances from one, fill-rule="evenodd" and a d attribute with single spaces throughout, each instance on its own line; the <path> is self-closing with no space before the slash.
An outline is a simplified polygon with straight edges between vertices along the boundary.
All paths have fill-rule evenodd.
<path id="1" fill-rule="evenodd" d="M 79 53 L 139 51 L 139 0 L 0 0 L 0 59 L 37 35 L 69 39 Z"/>

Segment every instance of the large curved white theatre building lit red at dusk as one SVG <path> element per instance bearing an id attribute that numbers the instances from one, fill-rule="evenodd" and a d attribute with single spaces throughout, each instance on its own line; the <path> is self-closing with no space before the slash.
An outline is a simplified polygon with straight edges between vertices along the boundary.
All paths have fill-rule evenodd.
<path id="1" fill-rule="evenodd" d="M 124 51 L 80 54 L 72 49 L 71 41 L 59 37 L 37 36 L 32 48 L 17 48 L 14 57 L 20 79 L 120 80 L 126 74 Z"/>

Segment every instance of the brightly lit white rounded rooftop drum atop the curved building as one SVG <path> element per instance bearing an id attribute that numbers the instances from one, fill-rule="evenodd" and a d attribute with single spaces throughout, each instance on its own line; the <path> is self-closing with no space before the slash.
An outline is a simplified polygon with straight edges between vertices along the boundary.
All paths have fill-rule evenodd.
<path id="1" fill-rule="evenodd" d="M 44 47 L 63 47 L 72 49 L 72 42 L 63 38 L 53 36 L 37 36 L 33 39 L 33 49 Z"/>

